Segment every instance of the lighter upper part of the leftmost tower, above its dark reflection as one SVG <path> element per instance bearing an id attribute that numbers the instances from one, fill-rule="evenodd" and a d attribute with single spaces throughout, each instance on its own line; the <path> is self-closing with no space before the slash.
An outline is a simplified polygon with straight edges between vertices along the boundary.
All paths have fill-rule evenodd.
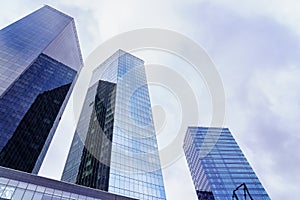
<path id="1" fill-rule="evenodd" d="M 50 6 L 0 30 L 0 96 L 41 53 L 75 71 L 82 66 L 73 18 Z"/>

